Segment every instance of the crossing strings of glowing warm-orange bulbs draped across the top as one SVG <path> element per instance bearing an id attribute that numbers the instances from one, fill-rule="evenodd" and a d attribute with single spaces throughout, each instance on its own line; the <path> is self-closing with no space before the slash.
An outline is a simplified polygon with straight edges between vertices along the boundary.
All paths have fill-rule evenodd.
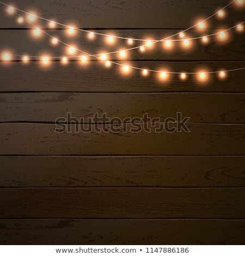
<path id="1" fill-rule="evenodd" d="M 8 4 L 5 4 L 3 2 L 0 2 L 1 4 L 4 4 L 4 5 L 7 5 L 8 9 L 8 13 L 9 14 L 14 14 L 15 11 L 21 11 L 22 13 L 26 13 L 27 14 L 27 20 L 29 21 L 29 23 L 32 23 L 36 20 L 36 18 L 38 19 L 42 19 L 42 20 L 45 20 L 45 21 L 48 21 L 49 22 L 49 26 L 51 28 L 54 28 L 56 27 L 57 25 L 62 25 L 62 26 L 65 26 L 67 29 L 67 33 L 69 35 L 75 35 L 76 34 L 76 31 L 84 31 L 84 32 L 87 32 L 88 33 L 88 38 L 89 39 L 94 39 L 95 35 L 103 35 L 103 36 L 106 36 L 106 40 L 109 44 L 114 44 L 115 40 L 116 39 L 127 39 L 127 43 L 129 45 L 132 45 L 134 43 L 134 40 L 136 41 L 144 41 L 145 44 L 144 45 L 141 45 L 141 46 L 137 46 L 137 47 L 133 47 L 133 48 L 128 48 L 128 49 L 124 49 L 124 50 L 119 50 L 119 51 L 114 51 L 114 52 L 108 52 L 108 53 L 102 53 L 102 54 L 89 54 L 89 53 L 86 53 L 86 52 L 83 52 L 81 50 L 79 50 L 78 48 L 76 48 L 75 46 L 70 46 L 68 44 L 66 44 L 65 42 L 53 37 L 52 35 L 42 31 L 40 28 L 36 27 L 34 30 L 33 30 L 33 34 L 35 36 L 40 36 L 42 32 L 44 32 L 46 35 L 48 36 L 51 36 L 51 42 L 53 45 L 56 45 L 58 44 L 58 42 L 61 42 L 62 44 L 66 45 L 68 47 L 68 53 L 71 54 L 71 55 L 74 55 L 76 53 L 76 51 L 79 51 L 79 52 L 82 52 L 82 53 L 85 53 L 86 56 L 80 56 L 79 57 L 79 60 L 82 62 L 82 63 L 86 63 L 88 61 L 88 58 L 89 57 L 95 57 L 97 59 L 100 59 L 100 60 L 104 60 L 106 61 L 105 62 L 105 65 L 107 67 L 111 66 L 112 64 L 116 64 L 116 65 L 119 65 L 121 66 L 121 70 L 122 72 L 124 72 L 125 74 L 128 74 L 130 73 L 130 70 L 131 69 L 137 69 L 137 70 L 140 70 L 142 71 L 142 75 L 143 76 L 147 76 L 149 74 L 149 72 L 157 72 L 159 74 L 159 77 L 161 80 L 168 80 L 169 78 L 169 75 L 170 74 L 178 74 L 180 75 L 180 78 L 181 80 L 186 80 L 187 78 L 187 74 L 195 74 L 197 75 L 198 77 L 198 80 L 200 81 L 206 81 L 209 77 L 209 74 L 218 74 L 220 78 L 225 78 L 226 76 L 226 72 L 230 72 L 230 71 L 237 71 L 237 70 L 243 70 L 245 68 L 239 68 L 239 69 L 231 69 L 231 70 L 223 70 L 223 71 L 212 71 L 212 72 L 207 72 L 207 71 L 200 71 L 200 72 L 186 72 L 186 73 L 183 73 L 183 72 L 170 72 L 168 70 L 164 70 L 164 71 L 160 71 L 160 70 L 149 70 L 149 69 L 142 69 L 142 68 L 138 68 L 138 67 L 134 67 L 134 66 L 130 66 L 130 65 L 125 65 L 125 64 L 121 64 L 121 63 L 118 63 L 118 62 L 112 62 L 112 61 L 109 61 L 107 60 L 107 55 L 108 54 L 113 54 L 113 53 L 119 53 L 119 56 L 121 58 L 126 58 L 127 54 L 126 52 L 127 51 L 130 51 L 130 50 L 134 50 L 134 49 L 137 49 L 139 48 L 140 51 L 144 52 L 145 51 L 145 47 L 148 47 L 148 48 L 152 48 L 152 45 L 153 44 L 156 44 L 156 42 L 161 42 L 163 41 L 164 42 L 164 45 L 166 48 L 170 48 L 172 47 L 172 42 L 173 41 L 181 41 L 183 46 L 184 47 L 189 47 L 191 45 L 191 40 L 195 40 L 195 39 L 202 39 L 203 42 L 207 42 L 208 41 L 208 38 L 210 36 L 213 36 L 213 35 L 218 35 L 219 39 L 221 40 L 224 40 L 226 38 L 226 31 L 229 31 L 233 28 L 236 28 L 237 31 L 241 32 L 243 30 L 243 22 L 241 22 L 240 24 L 234 26 L 234 27 L 231 27 L 231 28 L 228 28 L 228 29 L 224 29 L 223 31 L 220 31 L 218 33 L 213 33 L 213 34 L 210 34 L 210 35 L 205 35 L 205 36 L 198 36 L 196 38 L 185 38 L 185 34 L 184 32 L 188 31 L 189 29 L 193 28 L 193 27 L 198 27 L 199 29 L 203 30 L 206 28 L 206 23 L 205 21 L 211 19 L 211 17 L 215 16 L 215 15 L 218 15 L 218 16 L 224 16 L 224 9 L 227 8 L 230 4 L 232 4 L 233 2 L 236 2 L 237 4 L 241 5 L 241 3 L 243 3 L 243 0 L 234 0 L 232 2 L 230 2 L 228 5 L 226 5 L 224 8 L 222 8 L 221 10 L 219 10 L 217 13 L 211 15 L 210 17 L 208 17 L 207 19 L 203 20 L 203 21 L 199 21 L 197 24 L 195 24 L 194 26 L 190 27 L 190 28 L 187 28 L 185 29 L 184 31 L 180 32 L 180 33 L 176 33 L 172 36 L 168 36 L 167 38 L 165 39 L 161 39 L 161 40 L 150 40 L 150 39 L 132 39 L 132 38 L 126 38 L 126 37 L 121 37 L 121 36 L 115 36 L 115 35 L 107 35 L 107 34 L 102 34 L 102 33 L 97 33 L 97 32 L 91 32 L 91 31 L 87 31 L 87 30 L 84 30 L 84 29 L 79 29 L 79 28 L 76 28 L 74 26 L 67 26 L 67 25 L 64 25 L 62 23 L 58 23 L 58 22 L 54 22 L 54 21 L 51 21 L 51 20 L 47 20 L 47 19 L 44 19 L 43 17 L 40 17 L 40 16 L 37 16 L 33 13 L 27 13 L 26 11 L 23 11 L 23 10 L 20 10 L 20 9 L 17 9 L 17 8 L 14 8 L 13 6 L 10 6 Z M 19 19 L 17 20 L 18 23 L 23 23 L 23 18 L 21 19 L 22 17 L 19 17 Z M 174 39 L 174 40 L 169 40 L 169 38 L 173 38 L 174 36 L 176 35 L 179 35 L 181 39 Z M 10 61 L 13 56 L 19 56 L 19 57 L 22 57 L 22 61 L 24 63 L 27 63 L 29 62 L 29 58 L 38 58 L 37 56 L 30 56 L 30 57 L 27 57 L 27 56 L 21 56 L 21 55 L 15 55 L 15 54 L 11 54 L 11 53 L 3 53 L 2 54 L 2 60 L 3 61 Z M 77 56 L 73 56 L 73 58 L 75 58 Z M 52 59 L 59 59 L 61 58 L 62 60 L 62 63 L 63 64 L 67 64 L 68 63 L 68 59 L 71 58 L 71 57 L 50 57 L 50 56 L 42 56 L 41 57 L 41 63 L 42 65 L 44 66 L 48 66 L 50 65 L 50 61 Z"/>

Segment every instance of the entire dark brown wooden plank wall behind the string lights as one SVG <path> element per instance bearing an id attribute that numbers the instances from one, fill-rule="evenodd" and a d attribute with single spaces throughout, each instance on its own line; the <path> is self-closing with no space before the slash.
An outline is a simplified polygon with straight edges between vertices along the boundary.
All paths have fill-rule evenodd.
<path id="1" fill-rule="evenodd" d="M 223 7 L 224 0 L 24 0 L 22 9 L 83 28 L 122 36 L 162 38 Z M 244 9 L 228 9 L 207 33 L 243 21 Z M 48 41 L 30 39 L 0 11 L 0 48 L 37 54 Z M 48 30 L 62 35 L 62 30 Z M 192 34 L 193 31 L 190 33 Z M 192 51 L 132 52 L 135 66 L 191 71 L 245 66 L 244 33 L 229 42 L 199 42 Z M 101 39 L 81 35 L 78 46 L 93 52 Z M 109 48 L 104 48 L 109 50 Z M 51 48 L 52 54 L 63 48 Z M 117 56 L 113 56 L 117 60 Z M 17 59 L 16 59 L 17 60 Z M 0 64 L 1 244 L 244 244 L 244 71 L 227 80 L 212 77 L 166 83 L 136 72 L 120 76 L 98 62 Z M 72 113 L 89 118 L 190 117 L 188 133 L 56 133 L 55 120 Z M 125 124 L 130 127 L 132 124 Z"/>

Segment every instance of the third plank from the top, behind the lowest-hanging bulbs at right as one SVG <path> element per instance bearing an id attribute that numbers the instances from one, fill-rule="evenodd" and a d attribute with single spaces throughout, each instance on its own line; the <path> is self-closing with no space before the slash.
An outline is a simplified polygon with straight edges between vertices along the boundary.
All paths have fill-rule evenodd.
<path id="1" fill-rule="evenodd" d="M 234 69 L 245 66 L 244 62 L 132 62 L 145 68 L 168 67 L 172 71 L 195 71 L 199 67 L 207 70 Z M 227 79 L 210 76 L 207 83 L 199 83 L 195 76 L 180 81 L 173 75 L 168 82 L 159 81 L 157 75 L 142 77 L 138 72 L 121 76 L 118 67 L 105 69 L 101 63 L 90 63 L 84 67 L 78 63 L 68 66 L 39 68 L 40 64 L 22 65 L 0 63 L 0 92 L 245 92 L 244 71 L 230 72 Z"/>

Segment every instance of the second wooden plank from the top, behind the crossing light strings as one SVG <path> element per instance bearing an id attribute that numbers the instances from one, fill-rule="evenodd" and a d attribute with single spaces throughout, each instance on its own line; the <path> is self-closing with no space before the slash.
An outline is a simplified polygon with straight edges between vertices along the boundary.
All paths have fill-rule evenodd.
<path id="1" fill-rule="evenodd" d="M 218 29 L 209 29 L 205 31 L 205 34 L 218 33 Z M 97 36 L 96 40 L 87 39 L 87 34 L 79 33 L 76 38 L 67 38 L 64 30 L 46 30 L 46 33 L 59 38 L 59 40 L 64 41 L 66 44 L 76 45 L 76 47 L 89 54 L 100 54 L 103 52 L 114 52 L 120 49 L 131 48 L 139 45 L 143 45 L 144 42 L 136 42 L 133 46 L 128 45 L 126 40 L 118 40 L 115 46 L 107 46 L 105 44 L 105 38 L 103 36 Z M 169 35 L 178 33 L 174 29 L 131 29 L 125 31 L 97 31 L 99 33 L 116 34 L 119 33 L 120 36 L 129 36 L 131 38 L 155 38 L 163 39 L 167 38 Z M 9 47 L 11 42 L 11 48 L 14 49 L 16 54 L 30 53 L 30 55 L 38 55 L 41 53 L 49 52 L 51 56 L 66 56 L 67 46 L 64 44 L 59 44 L 53 47 L 50 44 L 51 38 L 48 35 L 43 34 L 40 39 L 32 38 L 32 30 L 0 30 L 0 49 L 5 49 Z M 187 33 L 187 32 L 186 32 Z M 139 49 L 128 51 L 126 60 L 244 60 L 244 41 L 245 33 L 237 34 L 236 31 L 230 32 L 232 35 L 232 40 L 225 41 L 223 43 L 217 43 L 217 35 L 210 37 L 209 44 L 203 44 L 200 40 L 193 40 L 192 47 L 188 50 L 182 47 L 182 42 L 174 42 L 174 47 L 172 50 L 164 48 L 163 42 L 158 42 L 154 44 L 154 47 L 149 48 L 144 53 L 140 52 Z M 197 37 L 200 33 L 191 31 L 186 35 L 187 37 Z M 176 38 L 175 38 L 176 39 Z M 234 50 L 235 49 L 235 50 Z M 84 53 L 77 52 L 77 56 L 84 55 Z M 118 53 L 109 54 L 109 59 L 119 60 L 120 56 Z M 20 59 L 15 57 L 15 59 Z M 95 59 L 95 58 L 90 58 Z"/>

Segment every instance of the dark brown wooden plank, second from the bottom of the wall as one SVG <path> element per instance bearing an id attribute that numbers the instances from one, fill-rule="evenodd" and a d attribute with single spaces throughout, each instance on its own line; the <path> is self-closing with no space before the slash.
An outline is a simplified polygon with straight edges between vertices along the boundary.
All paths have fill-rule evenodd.
<path id="1" fill-rule="evenodd" d="M 1 188 L 1 218 L 244 218 L 245 188 Z"/>

